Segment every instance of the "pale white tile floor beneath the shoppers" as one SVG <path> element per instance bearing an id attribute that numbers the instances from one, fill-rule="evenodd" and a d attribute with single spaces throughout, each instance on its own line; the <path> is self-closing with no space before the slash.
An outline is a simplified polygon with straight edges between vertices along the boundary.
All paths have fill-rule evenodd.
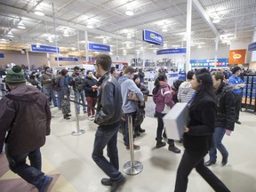
<path id="1" fill-rule="evenodd" d="M 124 192 L 165 192 L 173 191 L 176 170 L 180 163 L 181 154 L 173 154 L 164 148 L 155 148 L 156 118 L 152 116 L 154 107 L 149 98 L 147 117 L 142 124 L 146 132 L 135 143 L 140 145 L 140 150 L 135 151 L 135 160 L 143 164 L 143 171 L 138 175 L 128 176 L 122 188 Z M 74 106 L 71 106 L 74 111 Z M 64 176 L 78 192 L 104 192 L 108 187 L 102 186 L 100 180 L 106 177 L 104 172 L 92 161 L 92 146 L 96 124 L 89 121 L 84 114 L 79 115 L 80 129 L 85 133 L 72 136 L 76 130 L 75 116 L 70 120 L 62 118 L 60 110 L 52 108 L 52 133 L 47 138 L 42 148 L 44 158 L 49 161 L 62 176 Z M 242 112 L 241 125 L 236 124 L 236 130 L 230 137 L 225 136 L 223 143 L 228 148 L 228 164 L 221 166 L 221 156 L 218 154 L 217 164 L 211 169 L 232 192 L 256 191 L 256 116 L 252 113 Z M 118 133 L 118 151 L 120 170 L 130 161 L 130 153 L 124 148 L 123 136 Z M 208 160 L 208 156 L 206 156 Z M 44 170 L 44 164 L 43 164 Z M 194 170 L 188 178 L 188 192 L 210 192 L 212 188 Z M 58 190 L 59 191 L 59 190 Z"/>

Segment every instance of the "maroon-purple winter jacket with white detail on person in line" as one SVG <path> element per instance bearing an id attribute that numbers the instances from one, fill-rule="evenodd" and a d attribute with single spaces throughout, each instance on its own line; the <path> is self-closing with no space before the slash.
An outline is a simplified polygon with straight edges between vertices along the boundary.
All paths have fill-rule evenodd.
<path id="1" fill-rule="evenodd" d="M 172 100 L 172 89 L 164 81 L 159 82 L 160 86 L 153 90 L 153 101 L 156 103 L 156 112 L 162 113 L 164 111 L 165 104 L 170 106 L 174 105 Z"/>

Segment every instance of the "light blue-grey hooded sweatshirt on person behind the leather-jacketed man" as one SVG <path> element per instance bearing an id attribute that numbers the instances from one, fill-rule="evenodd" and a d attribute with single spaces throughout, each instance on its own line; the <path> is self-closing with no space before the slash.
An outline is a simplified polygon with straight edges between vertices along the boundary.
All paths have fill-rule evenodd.
<path id="1" fill-rule="evenodd" d="M 128 92 L 133 92 L 138 95 L 140 101 L 143 101 L 143 93 L 140 88 L 130 79 L 128 76 L 121 76 L 118 79 L 119 84 L 121 84 L 121 94 L 123 105 L 122 109 L 125 114 L 135 112 L 138 108 L 137 103 L 134 100 L 127 100 Z"/>

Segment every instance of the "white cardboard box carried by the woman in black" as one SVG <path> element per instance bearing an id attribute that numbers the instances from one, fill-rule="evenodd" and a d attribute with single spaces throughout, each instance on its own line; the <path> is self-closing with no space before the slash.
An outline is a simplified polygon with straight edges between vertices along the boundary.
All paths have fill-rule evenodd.
<path id="1" fill-rule="evenodd" d="M 184 125 L 188 121 L 188 103 L 176 103 L 163 120 L 167 138 L 180 140 L 184 132 Z"/>

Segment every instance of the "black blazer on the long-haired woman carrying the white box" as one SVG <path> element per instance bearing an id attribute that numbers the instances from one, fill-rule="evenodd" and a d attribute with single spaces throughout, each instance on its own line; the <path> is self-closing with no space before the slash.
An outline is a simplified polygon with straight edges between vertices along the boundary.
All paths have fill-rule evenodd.
<path id="1" fill-rule="evenodd" d="M 212 148 L 212 133 L 216 115 L 216 104 L 208 94 L 202 93 L 188 107 L 188 129 L 183 136 L 188 153 L 207 153 Z"/>

